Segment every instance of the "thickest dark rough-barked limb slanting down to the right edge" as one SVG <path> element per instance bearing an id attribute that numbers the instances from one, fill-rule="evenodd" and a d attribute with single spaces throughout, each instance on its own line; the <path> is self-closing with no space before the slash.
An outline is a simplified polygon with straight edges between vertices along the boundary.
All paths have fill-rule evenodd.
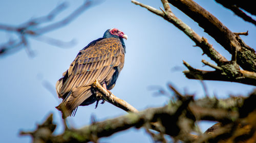
<path id="1" fill-rule="evenodd" d="M 238 64 L 247 71 L 256 72 L 255 50 L 246 45 L 243 40 L 232 33 L 214 15 L 192 0 L 168 0 L 170 4 L 180 9 L 190 18 L 195 20 L 204 31 L 220 43 L 229 53 L 238 51 Z"/>

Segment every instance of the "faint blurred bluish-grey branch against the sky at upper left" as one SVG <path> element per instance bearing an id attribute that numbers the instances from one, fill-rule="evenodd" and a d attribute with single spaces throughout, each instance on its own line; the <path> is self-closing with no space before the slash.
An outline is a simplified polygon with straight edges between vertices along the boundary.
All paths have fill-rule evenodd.
<path id="1" fill-rule="evenodd" d="M 7 53 L 13 53 L 18 51 L 19 49 L 26 48 L 29 55 L 31 55 L 31 50 L 29 47 L 29 38 L 34 38 L 35 40 L 39 40 L 42 42 L 46 42 L 48 44 L 52 44 L 58 47 L 66 47 L 74 44 L 74 41 L 63 42 L 61 40 L 57 40 L 54 38 L 49 38 L 43 36 L 47 32 L 54 31 L 57 28 L 67 25 L 71 21 L 73 21 L 76 17 L 78 17 L 81 13 L 91 7 L 94 2 L 88 0 L 84 1 L 80 7 L 74 10 L 70 15 L 63 18 L 60 21 L 52 22 L 57 15 L 67 8 L 66 3 L 62 3 L 58 5 L 55 9 L 53 9 L 48 15 L 32 18 L 27 22 L 20 24 L 18 26 L 6 25 L 0 23 L 0 30 L 5 31 L 7 33 L 15 33 L 16 39 L 10 38 L 9 41 L 0 45 L 0 56 L 5 55 Z M 47 22 L 52 22 L 48 25 L 41 26 Z"/>

